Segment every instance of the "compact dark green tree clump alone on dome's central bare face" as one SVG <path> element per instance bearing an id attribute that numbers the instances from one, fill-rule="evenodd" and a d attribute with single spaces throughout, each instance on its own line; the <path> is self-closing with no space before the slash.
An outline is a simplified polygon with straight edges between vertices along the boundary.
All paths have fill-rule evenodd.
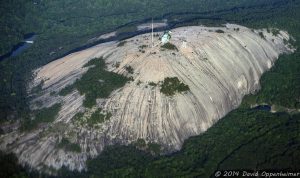
<path id="1" fill-rule="evenodd" d="M 189 86 L 180 82 L 177 77 L 167 77 L 164 79 L 160 92 L 167 96 L 172 96 L 176 92 L 185 92 L 190 90 Z"/>

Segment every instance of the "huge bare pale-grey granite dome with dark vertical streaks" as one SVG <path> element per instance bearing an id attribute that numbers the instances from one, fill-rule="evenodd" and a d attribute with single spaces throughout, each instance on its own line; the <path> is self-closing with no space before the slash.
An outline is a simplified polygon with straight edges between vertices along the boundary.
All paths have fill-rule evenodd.
<path id="1" fill-rule="evenodd" d="M 178 150 L 186 138 L 206 131 L 238 107 L 244 95 L 257 91 L 263 72 L 281 53 L 293 51 L 288 40 L 284 31 L 273 35 L 232 24 L 193 26 L 172 30 L 171 43 L 178 50 L 161 48 L 158 37 L 152 47 L 151 34 L 144 34 L 127 39 L 123 46 L 104 43 L 70 54 L 37 69 L 28 87 L 30 92 L 43 81 L 41 93 L 32 95 L 32 109 L 62 103 L 56 120 L 30 133 L 1 136 L 0 148 L 16 153 L 21 163 L 46 171 L 63 165 L 82 170 L 85 161 L 106 145 L 129 144 L 138 138 L 161 144 L 162 152 Z M 57 95 L 88 70 L 84 64 L 101 56 L 108 70 L 132 76 L 133 81 L 109 98 L 98 99 L 92 109 L 82 106 L 84 95 L 78 91 Z M 133 74 L 126 66 L 133 68 Z M 164 95 L 159 82 L 166 77 L 179 78 L 190 90 Z M 74 119 L 84 111 L 83 119 L 88 120 L 98 108 L 110 112 L 111 118 L 94 127 Z M 57 147 L 62 138 L 79 144 L 81 152 Z"/>

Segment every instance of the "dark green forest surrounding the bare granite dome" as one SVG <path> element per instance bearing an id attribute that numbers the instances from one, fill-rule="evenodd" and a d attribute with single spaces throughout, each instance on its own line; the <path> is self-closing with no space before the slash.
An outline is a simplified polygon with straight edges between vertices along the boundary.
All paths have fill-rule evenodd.
<path id="1" fill-rule="evenodd" d="M 182 22 L 174 22 L 175 26 L 230 22 L 251 28 L 287 30 L 296 40 L 291 41 L 293 45 L 300 46 L 300 2 L 296 0 L 212 0 L 205 1 L 209 2 L 205 5 L 203 0 L 189 3 L 141 0 L 118 3 L 108 0 L 36 2 L 0 2 L 0 23 L 3 24 L 0 29 L 1 54 L 8 52 L 24 34 L 38 34 L 36 43 L 29 50 L 0 63 L 2 122 L 12 119 L 28 121 L 30 111 L 25 85 L 31 78 L 32 69 L 81 46 L 97 34 L 133 20 L 151 18 L 152 12 L 147 7 L 153 7 L 155 18 L 174 13 L 164 17 L 170 23 L 174 19 Z M 222 11 L 226 9 L 230 11 Z M 300 115 L 293 111 L 300 108 L 299 51 L 282 55 L 275 67 L 263 75 L 261 85 L 261 90 L 247 96 L 240 108 L 229 113 L 207 132 L 188 139 L 177 153 L 153 156 L 136 149 L 134 145 L 117 145 L 106 148 L 96 159 L 89 160 L 86 172 L 61 169 L 57 176 L 210 177 L 217 169 L 299 170 Z M 279 112 L 250 109 L 250 105 L 261 103 L 276 105 Z M 43 114 L 42 111 L 38 113 Z M 13 155 L 1 153 L 0 162 L 5 165 L 0 168 L 0 177 L 38 176 L 17 165 Z"/>

